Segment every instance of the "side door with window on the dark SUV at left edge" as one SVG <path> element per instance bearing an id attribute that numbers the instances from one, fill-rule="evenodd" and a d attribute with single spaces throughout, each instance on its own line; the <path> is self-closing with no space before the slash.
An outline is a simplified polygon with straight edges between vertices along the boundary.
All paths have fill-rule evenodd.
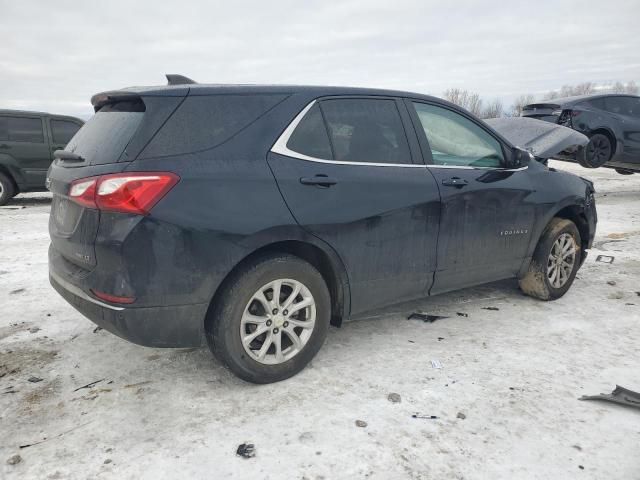
<path id="1" fill-rule="evenodd" d="M 0 155 L 10 158 L 21 187 L 44 187 L 51 164 L 43 119 L 38 116 L 0 116 Z"/>

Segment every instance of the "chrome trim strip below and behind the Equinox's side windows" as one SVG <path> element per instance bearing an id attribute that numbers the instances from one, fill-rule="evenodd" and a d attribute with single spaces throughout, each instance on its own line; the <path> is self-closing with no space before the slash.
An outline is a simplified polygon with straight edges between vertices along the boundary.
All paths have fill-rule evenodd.
<path id="1" fill-rule="evenodd" d="M 293 135 L 298 124 L 302 121 L 304 116 L 307 114 L 309 110 L 316 104 L 317 100 L 312 100 L 306 107 L 302 109 L 298 115 L 289 123 L 287 128 L 285 128 L 284 132 L 280 134 L 276 143 L 271 147 L 271 151 L 273 153 L 277 153 L 279 155 L 284 155 L 285 157 L 296 158 L 298 160 L 306 160 L 308 162 L 316 162 L 316 163 L 328 163 L 332 165 L 359 165 L 364 167 L 400 167 L 400 168 L 450 168 L 450 169 L 459 169 L 459 170 L 500 170 L 503 172 L 519 172 L 521 170 L 526 170 L 529 168 L 528 166 L 516 168 L 516 169 L 508 169 L 508 168 L 500 168 L 500 167 L 471 167 L 466 165 L 435 165 L 435 164 L 417 164 L 417 163 L 374 163 L 374 162 L 347 162 L 342 160 L 327 160 L 323 158 L 311 157 L 309 155 L 305 155 L 304 153 L 299 153 L 291 150 L 287 147 L 287 142 L 289 142 L 289 138 Z"/>

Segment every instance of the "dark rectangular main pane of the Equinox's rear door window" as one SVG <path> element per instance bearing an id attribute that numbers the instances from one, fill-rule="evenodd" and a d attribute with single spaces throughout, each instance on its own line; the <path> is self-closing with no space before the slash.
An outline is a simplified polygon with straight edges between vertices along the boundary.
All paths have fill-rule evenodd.
<path id="1" fill-rule="evenodd" d="M 411 163 L 409 144 L 394 100 L 337 99 L 320 103 L 335 160 Z"/>

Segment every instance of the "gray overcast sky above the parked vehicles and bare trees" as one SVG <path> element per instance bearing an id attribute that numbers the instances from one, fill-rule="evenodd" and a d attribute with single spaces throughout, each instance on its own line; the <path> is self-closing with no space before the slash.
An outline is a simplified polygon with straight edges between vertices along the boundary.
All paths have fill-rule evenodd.
<path id="1" fill-rule="evenodd" d="M 86 117 L 94 93 L 165 73 L 463 87 L 508 104 L 563 84 L 638 82 L 639 24 L 639 0 L 0 0 L 0 108 Z"/>

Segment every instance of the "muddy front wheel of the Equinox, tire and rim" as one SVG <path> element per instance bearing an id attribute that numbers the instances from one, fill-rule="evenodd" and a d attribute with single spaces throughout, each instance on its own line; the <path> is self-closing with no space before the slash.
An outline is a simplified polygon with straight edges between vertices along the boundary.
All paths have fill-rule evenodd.
<path id="1" fill-rule="evenodd" d="M 568 236 L 568 237 L 567 237 Z M 563 242 L 567 243 L 563 243 Z M 560 243 L 558 243 L 560 242 Z M 573 243 L 573 263 L 571 268 L 564 263 L 556 263 L 551 257 L 560 258 L 564 254 L 562 246 Z M 580 232 L 575 223 L 564 218 L 554 218 L 545 228 L 533 253 L 526 275 L 520 279 L 520 289 L 527 295 L 540 300 L 555 300 L 562 297 L 573 283 L 582 260 Z M 568 248 L 567 252 L 571 250 Z M 567 264 L 571 256 L 565 257 Z M 559 261 L 557 261 L 559 262 Z M 555 264 L 556 276 L 553 275 Z"/>

